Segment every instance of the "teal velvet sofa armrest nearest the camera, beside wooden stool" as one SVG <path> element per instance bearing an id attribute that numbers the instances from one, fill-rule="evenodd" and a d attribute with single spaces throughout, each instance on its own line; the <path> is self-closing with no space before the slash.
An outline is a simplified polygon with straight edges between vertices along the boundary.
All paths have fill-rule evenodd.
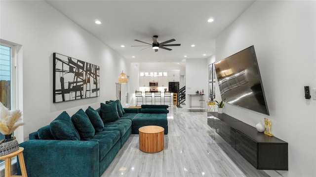
<path id="1" fill-rule="evenodd" d="M 99 177 L 97 142 L 29 140 L 19 146 L 30 177 Z"/>

